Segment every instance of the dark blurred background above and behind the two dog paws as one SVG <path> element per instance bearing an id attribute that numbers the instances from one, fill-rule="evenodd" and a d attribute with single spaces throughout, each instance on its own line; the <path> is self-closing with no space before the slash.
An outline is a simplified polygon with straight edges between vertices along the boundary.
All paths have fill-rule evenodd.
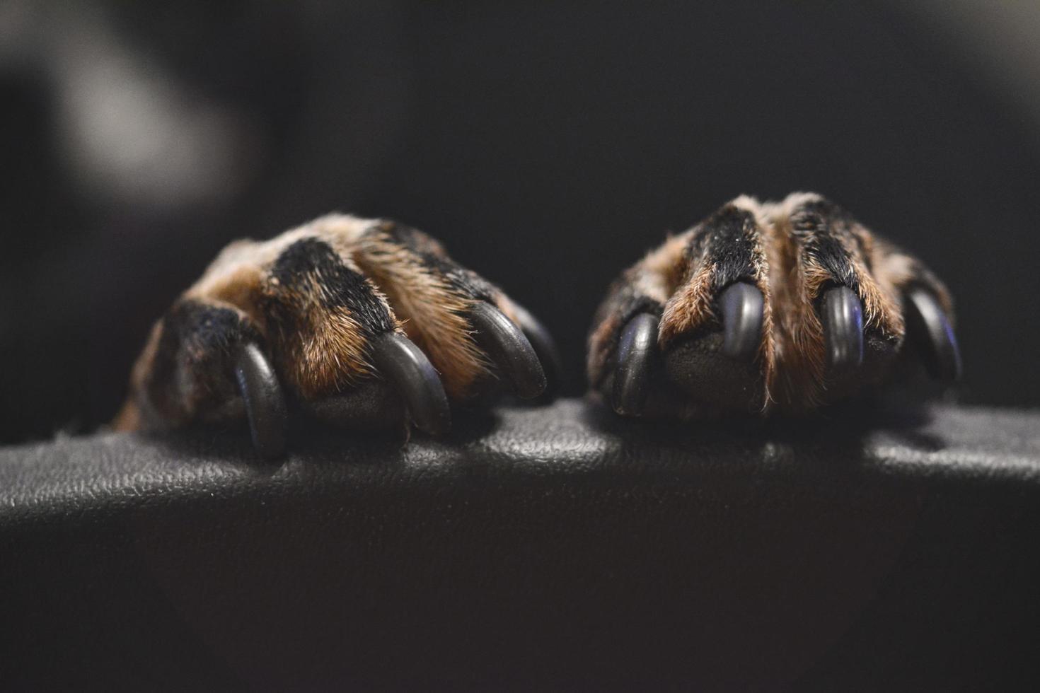
<path id="1" fill-rule="evenodd" d="M 0 0 L 0 441 L 107 421 L 229 240 L 441 238 L 583 390 L 607 283 L 823 192 L 953 289 L 967 402 L 1038 403 L 1040 4 Z"/>

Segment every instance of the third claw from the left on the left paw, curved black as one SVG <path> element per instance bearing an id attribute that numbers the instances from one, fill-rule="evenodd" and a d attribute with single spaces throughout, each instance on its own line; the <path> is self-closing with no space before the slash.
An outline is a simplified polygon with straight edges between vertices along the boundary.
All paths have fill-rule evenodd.
<path id="1" fill-rule="evenodd" d="M 491 303 L 476 302 L 469 314 L 473 338 L 513 382 L 517 397 L 531 399 L 545 392 L 546 379 L 538 354 L 527 338 Z"/>

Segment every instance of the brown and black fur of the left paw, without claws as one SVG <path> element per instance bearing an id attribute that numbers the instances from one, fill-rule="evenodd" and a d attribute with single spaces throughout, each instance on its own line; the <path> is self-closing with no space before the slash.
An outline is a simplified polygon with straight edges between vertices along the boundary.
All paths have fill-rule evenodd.
<path id="1" fill-rule="evenodd" d="M 496 384 L 467 320 L 476 301 L 514 319 L 501 290 L 392 221 L 333 214 L 269 241 L 236 241 L 154 326 L 114 425 L 242 419 L 232 358 L 244 341 L 305 406 L 378 387 L 369 343 L 386 331 L 426 354 L 449 399 L 470 400 Z M 359 421 L 370 423 L 364 412 Z"/>

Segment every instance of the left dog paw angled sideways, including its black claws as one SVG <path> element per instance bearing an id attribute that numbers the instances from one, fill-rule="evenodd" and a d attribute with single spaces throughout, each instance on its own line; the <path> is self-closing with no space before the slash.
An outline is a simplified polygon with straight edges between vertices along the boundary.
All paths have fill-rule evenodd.
<path id="1" fill-rule="evenodd" d="M 225 248 L 153 328 L 116 426 L 245 418 L 269 455 L 297 406 L 438 434 L 449 401 L 538 397 L 556 364 L 544 327 L 431 237 L 330 215 Z"/>

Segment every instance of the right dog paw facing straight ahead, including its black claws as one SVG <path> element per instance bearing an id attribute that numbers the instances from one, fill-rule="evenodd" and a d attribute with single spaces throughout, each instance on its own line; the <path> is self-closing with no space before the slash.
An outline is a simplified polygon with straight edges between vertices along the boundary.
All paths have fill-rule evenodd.
<path id="1" fill-rule="evenodd" d="M 738 197 L 615 282 L 589 377 L 628 416 L 805 411 L 880 383 L 910 351 L 956 378 L 951 315 L 938 278 L 837 205 Z"/>

